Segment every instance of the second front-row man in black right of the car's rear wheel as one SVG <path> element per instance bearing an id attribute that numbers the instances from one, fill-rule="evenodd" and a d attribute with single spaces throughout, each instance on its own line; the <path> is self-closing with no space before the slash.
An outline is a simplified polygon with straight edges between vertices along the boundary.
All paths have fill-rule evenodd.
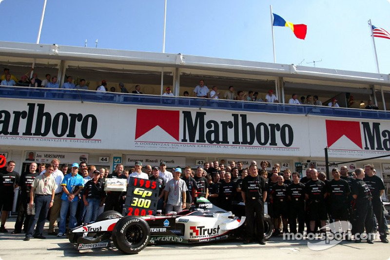
<path id="1" fill-rule="evenodd" d="M 290 232 L 296 234 L 296 219 L 298 218 L 298 233 L 305 230 L 305 184 L 299 182 L 299 173 L 292 173 L 292 184 L 287 187 L 289 198 Z"/>

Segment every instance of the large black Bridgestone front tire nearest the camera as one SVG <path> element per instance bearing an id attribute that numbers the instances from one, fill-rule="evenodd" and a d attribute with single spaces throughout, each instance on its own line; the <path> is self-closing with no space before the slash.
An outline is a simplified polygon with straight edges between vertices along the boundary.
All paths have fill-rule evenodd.
<path id="1" fill-rule="evenodd" d="M 150 240 L 149 224 L 136 216 L 125 216 L 114 226 L 113 242 L 126 254 L 137 254 L 143 250 Z"/>

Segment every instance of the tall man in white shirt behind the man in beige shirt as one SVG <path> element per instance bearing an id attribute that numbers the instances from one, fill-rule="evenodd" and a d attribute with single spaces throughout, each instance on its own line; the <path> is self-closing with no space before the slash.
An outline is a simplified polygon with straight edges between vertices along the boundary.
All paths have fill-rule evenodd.
<path id="1" fill-rule="evenodd" d="M 51 207 L 50 211 L 50 220 L 49 220 L 49 230 L 48 230 L 48 235 L 54 235 L 57 236 L 57 233 L 54 231 L 54 226 L 57 221 L 58 215 L 59 215 L 59 210 L 61 209 L 61 196 L 62 196 L 62 186 L 61 182 L 64 179 L 64 174 L 59 170 L 59 160 L 58 159 L 53 159 L 51 164 L 54 165 L 54 171 L 52 173 L 52 176 L 54 180 L 56 180 L 56 190 L 55 195 L 54 195 L 54 202 L 53 202 L 53 207 Z M 42 171 L 40 175 L 44 174 L 46 170 Z"/>

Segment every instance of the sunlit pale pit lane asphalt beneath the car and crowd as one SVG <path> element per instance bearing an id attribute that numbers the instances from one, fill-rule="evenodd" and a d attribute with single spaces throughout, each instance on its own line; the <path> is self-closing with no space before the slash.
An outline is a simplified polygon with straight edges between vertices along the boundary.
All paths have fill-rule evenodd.
<path id="1" fill-rule="evenodd" d="M 0 260 L 53 260 L 53 259 L 117 259 L 128 260 L 226 260 L 226 259 L 375 259 L 390 260 L 390 244 L 375 240 L 374 244 L 366 242 L 341 243 L 321 251 L 314 251 L 308 247 L 307 240 L 284 241 L 282 237 L 271 238 L 267 244 L 257 243 L 243 245 L 241 240 L 220 241 L 200 244 L 166 244 L 149 245 L 137 255 L 125 255 L 117 248 L 87 249 L 78 252 L 76 247 L 69 243 L 66 237 L 57 238 L 47 235 L 46 222 L 43 236 L 45 240 L 31 238 L 23 241 L 24 234 L 12 235 L 16 218 L 9 218 L 5 227 L 8 233 L 0 233 Z M 112 243 L 112 245 L 114 245 Z M 319 249 L 319 247 L 317 248 Z"/>

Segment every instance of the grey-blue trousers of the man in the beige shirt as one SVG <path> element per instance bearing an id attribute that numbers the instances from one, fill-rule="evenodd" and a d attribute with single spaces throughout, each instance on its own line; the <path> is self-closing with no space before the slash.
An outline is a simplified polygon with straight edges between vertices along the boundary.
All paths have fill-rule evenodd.
<path id="1" fill-rule="evenodd" d="M 46 222 L 47 212 L 49 211 L 51 198 L 52 198 L 51 195 L 38 195 L 38 194 L 35 195 L 34 197 L 35 215 L 31 216 L 30 218 L 26 237 L 30 238 L 33 236 L 35 224 L 37 224 L 37 228 L 35 230 L 34 236 L 42 235 L 43 227 Z"/>

